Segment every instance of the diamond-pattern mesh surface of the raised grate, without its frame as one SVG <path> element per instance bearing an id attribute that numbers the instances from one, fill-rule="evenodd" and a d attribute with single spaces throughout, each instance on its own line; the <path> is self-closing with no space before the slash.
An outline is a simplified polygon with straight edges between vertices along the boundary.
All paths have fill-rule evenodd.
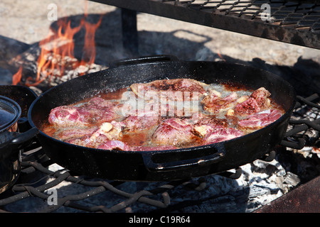
<path id="1" fill-rule="evenodd" d="M 241 1 L 223 0 L 207 1 L 193 0 L 181 2 L 187 7 L 198 8 L 201 11 L 224 13 L 229 16 L 244 16 L 251 20 L 261 20 L 262 13 L 270 7 L 269 23 L 279 23 L 279 26 L 294 26 L 307 28 L 311 33 L 320 33 L 320 5 L 316 3 L 299 3 L 293 1 Z"/>

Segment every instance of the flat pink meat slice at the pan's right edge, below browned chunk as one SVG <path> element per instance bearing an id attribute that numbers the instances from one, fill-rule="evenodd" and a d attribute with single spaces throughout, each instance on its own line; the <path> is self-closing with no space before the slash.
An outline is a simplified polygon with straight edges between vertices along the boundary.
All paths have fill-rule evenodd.
<path id="1" fill-rule="evenodd" d="M 268 109 L 253 114 L 245 120 L 239 121 L 238 126 L 245 130 L 257 130 L 277 121 L 281 116 L 282 111 L 279 111 L 278 109 Z"/>

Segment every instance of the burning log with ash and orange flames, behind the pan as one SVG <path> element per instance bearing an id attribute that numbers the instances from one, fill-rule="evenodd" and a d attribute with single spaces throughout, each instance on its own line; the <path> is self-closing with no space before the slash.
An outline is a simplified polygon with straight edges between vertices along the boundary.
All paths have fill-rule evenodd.
<path id="1" fill-rule="evenodd" d="M 95 31 L 100 26 L 102 17 L 95 23 L 88 23 L 83 18 L 80 25 L 71 28 L 70 21 L 60 21 L 59 27 L 48 38 L 31 45 L 25 52 L 9 61 L 13 84 L 22 84 L 41 93 L 83 74 L 105 70 L 107 67 L 95 62 Z M 73 54 L 75 43 L 73 36 L 85 28 L 85 45 L 82 60 Z"/>

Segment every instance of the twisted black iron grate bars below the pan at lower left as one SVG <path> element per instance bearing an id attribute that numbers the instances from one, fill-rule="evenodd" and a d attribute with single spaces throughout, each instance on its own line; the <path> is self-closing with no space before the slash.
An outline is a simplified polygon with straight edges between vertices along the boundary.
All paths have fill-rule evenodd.
<path id="1" fill-rule="evenodd" d="M 170 203 L 170 198 L 169 198 L 169 194 L 164 191 L 167 191 L 168 189 L 173 189 L 174 187 L 179 185 L 176 182 L 174 182 L 171 185 L 171 187 L 168 187 L 168 185 L 170 185 L 170 184 L 166 184 L 166 186 L 160 187 L 159 189 L 153 189 L 150 192 L 146 191 L 146 190 L 142 190 L 140 192 L 130 194 L 128 192 L 124 192 L 122 190 L 115 188 L 112 185 L 112 183 L 109 183 L 109 182 L 106 182 L 103 180 L 101 180 L 101 181 L 87 181 L 85 179 L 78 179 L 78 177 L 73 177 L 70 175 L 69 172 L 64 172 L 64 173 L 60 173 L 60 171 L 59 172 L 52 172 L 37 162 L 23 162 L 22 166 L 27 167 L 27 168 L 32 166 L 35 170 L 46 173 L 46 174 L 48 174 L 52 177 L 56 177 L 56 178 L 53 181 L 49 182 L 48 184 L 43 184 L 40 187 L 32 187 L 31 185 L 28 185 L 28 184 L 14 185 L 12 190 L 18 194 L 14 195 L 14 196 L 10 196 L 9 198 L 6 198 L 6 199 L 1 199 L 0 206 L 5 206 L 7 204 L 11 204 L 16 201 L 20 201 L 22 199 L 26 199 L 28 196 L 36 196 L 38 198 L 46 200 L 46 199 L 48 199 L 48 194 L 44 194 L 43 191 L 45 191 L 46 189 L 50 189 L 52 187 L 55 187 L 58 184 L 60 184 L 61 182 L 65 181 L 65 182 L 73 182 L 74 184 L 82 184 L 85 186 L 95 187 L 95 188 L 88 191 L 88 192 L 82 193 L 82 194 L 68 195 L 68 196 L 64 196 L 63 198 L 59 198 L 57 205 L 48 206 L 45 209 L 43 209 L 42 211 L 40 211 L 41 213 L 56 211 L 61 206 L 73 207 L 73 208 L 82 209 L 85 211 L 103 211 L 103 212 L 110 213 L 110 212 L 116 212 L 116 211 L 122 210 L 122 209 L 126 208 L 127 206 L 134 204 L 137 201 L 142 202 L 144 204 L 149 204 L 151 206 L 156 206 L 158 208 L 166 208 L 166 206 L 168 206 Z M 119 184 L 119 182 L 116 182 L 115 184 Z M 100 193 L 105 192 L 107 190 L 109 190 L 110 192 L 113 192 L 114 194 L 118 194 L 119 196 L 123 196 L 123 197 L 127 198 L 127 200 L 124 200 L 121 203 L 116 204 L 110 208 L 107 208 L 105 206 L 98 206 L 95 208 L 87 208 L 85 206 L 82 206 L 82 205 L 75 203 L 75 201 L 87 199 L 88 197 L 95 196 L 96 194 L 100 194 Z M 146 197 L 146 196 L 154 195 L 153 192 L 156 192 L 156 193 L 162 192 L 161 195 L 162 195 L 162 199 L 164 201 L 159 201 L 156 199 L 150 199 L 150 198 Z"/>

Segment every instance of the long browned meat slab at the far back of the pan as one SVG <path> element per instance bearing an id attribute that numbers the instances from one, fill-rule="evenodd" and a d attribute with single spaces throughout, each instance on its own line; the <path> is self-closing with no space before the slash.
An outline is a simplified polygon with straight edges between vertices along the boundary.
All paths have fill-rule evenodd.
<path id="1" fill-rule="evenodd" d="M 132 84 L 130 89 L 139 98 L 144 99 L 147 92 L 159 99 L 183 101 L 192 99 L 193 96 L 202 96 L 206 84 L 195 79 L 160 79 L 149 83 Z"/>

